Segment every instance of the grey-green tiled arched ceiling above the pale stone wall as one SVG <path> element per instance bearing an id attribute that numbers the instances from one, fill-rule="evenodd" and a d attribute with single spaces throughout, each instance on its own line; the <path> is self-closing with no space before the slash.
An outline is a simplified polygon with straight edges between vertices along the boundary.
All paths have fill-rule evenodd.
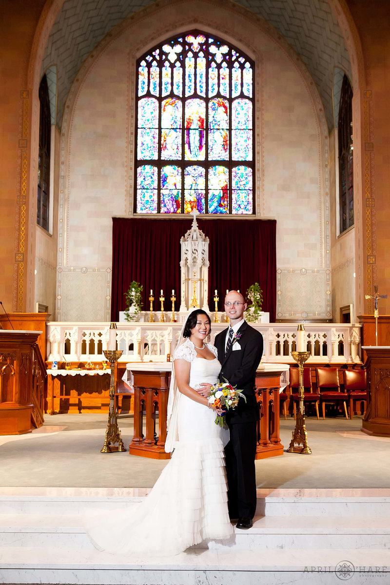
<path id="1" fill-rule="evenodd" d="M 65 101 L 82 63 L 119 22 L 154 0 L 65 0 L 51 29 L 42 61 L 42 74 L 56 65 L 58 72 L 57 126 Z M 322 98 L 329 130 L 334 127 L 334 68 L 351 79 L 346 44 L 327 0 L 236 0 L 261 16 L 299 54 Z"/>

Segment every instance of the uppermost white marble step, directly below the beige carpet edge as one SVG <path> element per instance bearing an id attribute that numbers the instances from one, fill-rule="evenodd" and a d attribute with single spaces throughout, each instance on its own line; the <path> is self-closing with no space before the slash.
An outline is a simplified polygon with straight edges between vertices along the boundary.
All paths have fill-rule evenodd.
<path id="1" fill-rule="evenodd" d="M 386 490 L 387 491 L 387 490 Z M 139 503 L 143 497 L 115 496 L 48 496 L 2 495 L 0 514 L 50 514 L 82 515 L 88 511 L 111 510 Z M 257 516 L 361 516 L 389 517 L 390 497 L 277 497 L 257 498 Z"/>

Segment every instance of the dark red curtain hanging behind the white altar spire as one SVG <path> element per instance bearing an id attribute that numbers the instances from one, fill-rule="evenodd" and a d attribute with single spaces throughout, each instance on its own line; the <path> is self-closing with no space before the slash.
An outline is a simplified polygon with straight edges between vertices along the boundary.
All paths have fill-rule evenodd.
<path id="1" fill-rule="evenodd" d="M 253 283 L 263 290 L 263 311 L 275 321 L 276 309 L 276 221 L 274 219 L 198 219 L 199 229 L 208 236 L 209 308 L 219 294 L 223 311 L 226 290 L 245 294 Z M 175 310 L 180 306 L 180 238 L 191 228 L 191 219 L 112 218 L 112 300 L 111 319 L 118 321 L 126 308 L 125 293 L 132 280 L 143 286 L 143 310 L 149 310 L 150 290 L 153 307 L 161 308 L 158 297 L 164 291 L 165 310 L 171 309 L 175 290 Z"/>

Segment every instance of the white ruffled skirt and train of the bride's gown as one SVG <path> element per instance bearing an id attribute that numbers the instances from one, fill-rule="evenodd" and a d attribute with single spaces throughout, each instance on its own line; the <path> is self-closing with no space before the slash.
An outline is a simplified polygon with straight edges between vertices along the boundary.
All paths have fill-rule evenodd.
<path id="1" fill-rule="evenodd" d="M 108 515 L 88 521 L 88 535 L 96 548 L 126 556 L 170 556 L 202 541 L 228 539 L 233 534 L 222 435 L 213 422 L 215 413 L 181 398 L 185 399 L 180 416 L 183 425 L 170 462 L 142 503 L 130 505 L 115 518 Z M 187 409 L 189 419 L 182 417 Z M 109 534 L 115 535 L 115 542 L 110 542 Z"/>

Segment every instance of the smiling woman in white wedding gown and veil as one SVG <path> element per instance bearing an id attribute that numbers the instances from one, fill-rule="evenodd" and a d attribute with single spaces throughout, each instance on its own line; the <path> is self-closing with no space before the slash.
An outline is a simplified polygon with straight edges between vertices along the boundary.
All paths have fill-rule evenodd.
<path id="1" fill-rule="evenodd" d="M 221 366 L 215 347 L 205 342 L 209 333 L 208 314 L 196 309 L 188 316 L 173 357 L 165 442 L 165 450 L 174 451 L 171 460 L 136 510 L 132 504 L 118 518 L 96 519 L 89 526 L 96 548 L 121 555 L 169 556 L 233 534 L 223 453 L 226 431 L 214 422 L 222 411 L 195 390 L 203 382 L 218 381 Z M 108 538 L 111 527 L 115 542 Z"/>

